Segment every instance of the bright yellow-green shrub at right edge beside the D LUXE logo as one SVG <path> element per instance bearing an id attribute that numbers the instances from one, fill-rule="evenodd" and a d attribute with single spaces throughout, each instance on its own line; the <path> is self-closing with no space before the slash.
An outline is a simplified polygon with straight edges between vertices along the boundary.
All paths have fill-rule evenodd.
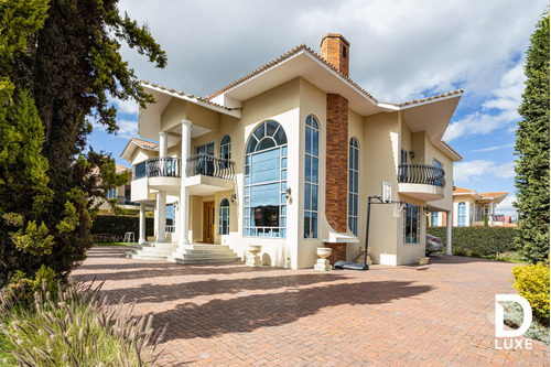
<path id="1" fill-rule="evenodd" d="M 532 313 L 549 325 L 549 266 L 536 265 L 512 268 L 515 288 L 532 306 Z"/>

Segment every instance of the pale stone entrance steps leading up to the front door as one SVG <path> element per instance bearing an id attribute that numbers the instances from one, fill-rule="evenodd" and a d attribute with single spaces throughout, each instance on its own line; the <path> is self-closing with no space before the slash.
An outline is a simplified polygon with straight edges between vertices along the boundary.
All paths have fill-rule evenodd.
<path id="1" fill-rule="evenodd" d="M 145 242 L 133 245 L 126 253 L 129 259 L 171 261 L 177 263 L 239 262 L 240 258 L 227 245 Z"/>

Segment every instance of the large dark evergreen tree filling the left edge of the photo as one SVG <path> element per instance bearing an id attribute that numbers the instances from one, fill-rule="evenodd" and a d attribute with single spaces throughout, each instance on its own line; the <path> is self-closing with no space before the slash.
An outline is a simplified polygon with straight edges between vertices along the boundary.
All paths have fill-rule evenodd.
<path id="1" fill-rule="evenodd" d="M 166 56 L 117 2 L 0 1 L 0 288 L 42 265 L 66 277 L 93 245 L 97 198 L 126 183 L 87 147 L 89 119 L 116 132 L 112 98 L 153 101 L 120 42 L 158 67 Z"/>

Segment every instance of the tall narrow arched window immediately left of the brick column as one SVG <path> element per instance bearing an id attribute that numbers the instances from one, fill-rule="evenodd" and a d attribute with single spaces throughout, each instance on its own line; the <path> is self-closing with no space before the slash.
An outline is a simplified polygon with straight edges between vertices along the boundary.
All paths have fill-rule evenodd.
<path id="1" fill-rule="evenodd" d="M 304 238 L 317 238 L 317 193 L 320 171 L 320 125 L 306 118 L 304 156 Z"/>

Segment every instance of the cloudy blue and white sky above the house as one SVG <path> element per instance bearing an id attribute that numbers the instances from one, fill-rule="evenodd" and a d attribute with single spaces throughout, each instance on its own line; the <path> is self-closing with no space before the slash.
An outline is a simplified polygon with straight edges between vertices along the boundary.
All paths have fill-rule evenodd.
<path id="1" fill-rule="evenodd" d="M 326 33 L 350 43 L 350 78 L 379 101 L 403 102 L 463 88 L 444 134 L 462 156 L 454 184 L 508 191 L 496 212 L 514 214 L 515 130 L 523 63 L 548 0 L 122 0 L 148 24 L 169 64 L 155 68 L 126 45 L 138 78 L 206 97 L 304 43 L 318 53 Z M 117 136 L 94 126 L 88 140 L 117 162 L 138 137 L 138 106 L 117 106 Z"/>

